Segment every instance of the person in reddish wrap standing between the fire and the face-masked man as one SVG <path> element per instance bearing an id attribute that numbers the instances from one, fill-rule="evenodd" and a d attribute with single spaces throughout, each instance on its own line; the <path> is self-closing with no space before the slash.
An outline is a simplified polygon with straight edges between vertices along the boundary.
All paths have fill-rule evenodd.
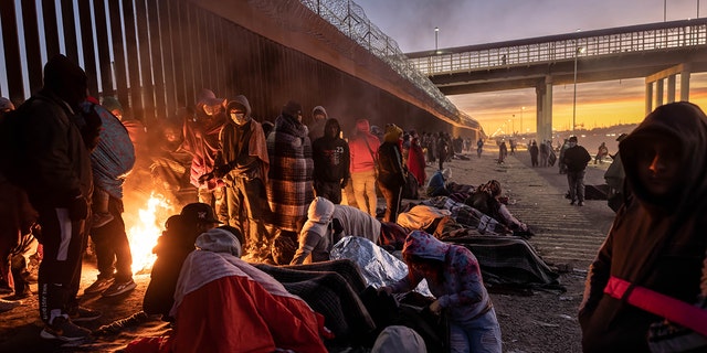
<path id="1" fill-rule="evenodd" d="M 228 222 L 228 205 L 223 181 L 202 179 L 213 172 L 219 150 L 219 133 L 225 124 L 225 99 L 217 98 L 210 89 L 202 89 L 193 119 L 184 120 L 182 149 L 192 156 L 190 182 L 198 189 L 199 202 L 213 207 L 221 222 Z"/>

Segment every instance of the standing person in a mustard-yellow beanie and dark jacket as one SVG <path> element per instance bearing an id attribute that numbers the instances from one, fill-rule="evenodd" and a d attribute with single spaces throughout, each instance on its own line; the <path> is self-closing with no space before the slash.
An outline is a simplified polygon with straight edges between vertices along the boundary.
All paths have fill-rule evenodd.
<path id="1" fill-rule="evenodd" d="M 378 186 L 386 197 L 383 222 L 394 223 L 398 218 L 402 186 L 408 181 L 405 170 L 402 167 L 401 139 L 402 129 L 394 124 L 389 124 L 386 127 L 383 143 L 378 148 Z"/>

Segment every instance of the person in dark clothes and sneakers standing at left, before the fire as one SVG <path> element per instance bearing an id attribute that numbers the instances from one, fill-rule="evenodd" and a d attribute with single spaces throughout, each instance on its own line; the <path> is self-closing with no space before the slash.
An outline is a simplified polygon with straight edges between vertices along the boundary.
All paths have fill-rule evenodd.
<path id="1" fill-rule="evenodd" d="M 84 71 L 57 54 L 44 66 L 43 88 L 21 107 L 27 114 L 18 131 L 20 186 L 39 212 L 44 248 L 38 279 L 43 339 L 83 340 L 91 331 L 74 322 L 101 315 L 76 299 L 93 192 L 89 151 L 76 125 L 86 90 Z"/>

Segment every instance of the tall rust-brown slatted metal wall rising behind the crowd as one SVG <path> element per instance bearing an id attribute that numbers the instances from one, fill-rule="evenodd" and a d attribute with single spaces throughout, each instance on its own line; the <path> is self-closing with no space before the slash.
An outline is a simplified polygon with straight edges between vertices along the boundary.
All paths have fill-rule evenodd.
<path id="1" fill-rule="evenodd" d="M 0 2 L 7 76 L 7 92 L 0 95 L 15 105 L 41 88 L 44 62 L 62 52 L 82 64 L 92 95 L 117 96 L 126 115 L 148 127 L 175 118 L 178 108 L 196 103 L 201 88 L 210 88 L 223 98 L 245 95 L 258 120 L 274 120 L 294 99 L 306 116 L 314 106 L 325 106 L 345 132 L 357 118 L 419 131 L 452 128 L 378 87 L 186 0 L 19 4 Z"/>

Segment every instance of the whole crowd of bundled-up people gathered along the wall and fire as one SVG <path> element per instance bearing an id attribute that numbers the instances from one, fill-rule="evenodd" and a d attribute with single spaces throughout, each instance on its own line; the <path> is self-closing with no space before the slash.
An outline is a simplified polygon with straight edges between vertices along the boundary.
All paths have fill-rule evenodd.
<path id="1" fill-rule="evenodd" d="M 451 182 L 444 163 L 469 152 L 471 139 L 452 139 L 444 131 L 418 135 L 394 124 L 374 129 L 368 119 L 358 119 L 346 136 L 323 106 L 305 124 L 296 100 L 283 105 L 273 122 L 257 121 L 245 96 L 219 98 L 210 89 L 199 94 L 193 108 L 179 110 L 181 120 L 160 122 L 150 133 L 138 119 L 125 117 L 114 97 L 101 104 L 86 92 L 84 71 L 56 55 L 44 67 L 42 90 L 17 110 L 0 100 L 2 129 L 13 135 L 4 143 L 3 153 L 10 157 L 3 156 L 0 174 L 0 211 L 9 220 L 2 223 L 2 256 L 12 266 L 3 264 L 1 275 L 14 297 L 24 298 L 32 295 L 29 264 L 41 264 L 36 280 L 43 339 L 84 340 L 92 332 L 77 322 L 101 317 L 77 299 L 89 238 L 98 277 L 84 295 L 117 297 L 136 288 L 123 200 L 130 183 L 145 178 L 183 204 L 165 223 L 144 298 L 146 314 L 175 323 L 159 346 L 326 352 L 336 341 L 325 324 L 333 324 L 331 317 L 325 319 L 326 308 L 316 299 L 305 300 L 306 289 L 275 279 L 275 274 L 331 265 L 334 245 L 358 236 L 400 252 L 407 265 L 408 274 L 379 287 L 378 295 L 409 292 L 426 280 L 434 298 L 424 307 L 446 320 L 447 351 L 502 351 L 478 260 L 467 247 L 446 242 L 450 232 L 435 231 L 452 226 L 464 234 L 520 235 L 519 242 L 532 235 L 505 206 L 497 181 L 478 186 Z M 6 119 L 12 110 L 17 114 Z M 700 322 L 665 317 L 659 307 L 674 302 L 654 306 L 633 292 L 668 296 L 688 303 L 680 310 L 704 311 L 707 293 L 699 285 L 707 272 L 706 243 L 699 232 L 706 136 L 704 113 L 679 103 L 657 108 L 622 139 L 622 186 L 630 192 L 622 192 L 614 225 L 588 275 L 580 311 L 587 351 L 646 351 L 650 344 L 675 340 L 662 334 L 675 324 L 675 330 L 705 334 Z M 148 148 L 150 141 L 159 148 Z M 560 171 L 567 173 L 571 204 L 582 206 L 591 157 L 577 137 L 567 145 Z M 476 146 L 481 158 L 484 141 Z M 515 153 L 515 142 L 510 149 Z M 532 141 L 529 151 L 532 167 L 553 163 L 549 142 L 538 147 Z M 504 163 L 507 153 L 505 141 L 499 142 L 497 162 Z M 697 168 L 679 172 L 687 158 Z M 428 179 L 429 165 L 436 171 Z M 425 201 L 418 205 L 402 203 L 411 183 L 426 186 Z M 379 194 L 386 201 L 382 211 Z M 639 243 L 642 249 L 636 250 L 631 244 Z M 288 266 L 274 267 L 279 265 Z M 312 271 L 291 275 L 304 278 Z M 676 272 L 686 280 L 677 280 Z M 351 290 L 362 280 L 347 281 Z M 626 286 L 635 289 L 626 291 Z M 342 290 L 337 288 L 331 290 Z M 8 300 L 0 306 L 13 307 Z M 664 330 L 654 329 L 658 325 Z M 337 332 L 341 339 L 344 331 Z M 646 340 L 648 332 L 651 342 L 658 343 Z M 140 340 L 126 351 L 156 352 L 155 343 Z"/>

